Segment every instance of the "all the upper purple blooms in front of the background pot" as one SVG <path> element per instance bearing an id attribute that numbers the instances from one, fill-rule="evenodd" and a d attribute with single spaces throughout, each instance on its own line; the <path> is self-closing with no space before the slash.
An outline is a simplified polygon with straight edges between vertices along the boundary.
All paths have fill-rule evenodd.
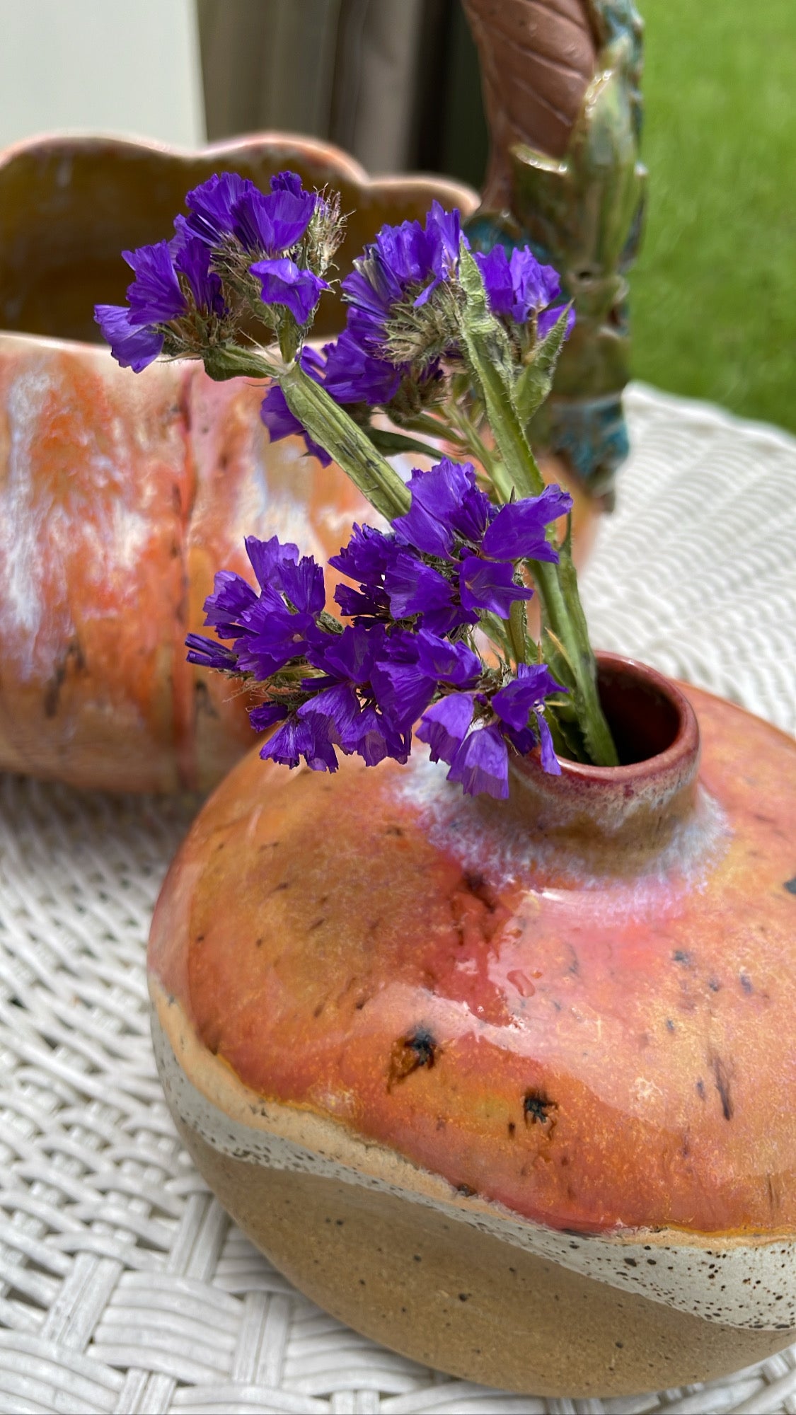
<path id="1" fill-rule="evenodd" d="M 324 218 L 330 228 L 336 225 L 333 207 L 317 192 L 305 191 L 296 173 L 272 177 L 268 191 L 237 173 L 221 173 L 190 191 L 186 205 L 188 214 L 176 218 L 171 241 L 123 252 L 135 275 L 127 304 L 95 307 L 95 320 L 123 368 L 140 372 L 164 350 L 203 354 L 224 342 L 232 331 L 228 306 L 237 303 L 224 280 L 231 279 L 238 290 L 235 277 L 239 283 L 241 273 L 251 287 L 246 299 L 254 294 L 256 303 L 259 296 L 263 306 L 289 311 L 302 328 L 329 289 L 324 262 L 309 267 L 307 233 L 316 216 L 322 225 Z M 385 225 L 354 260 L 354 270 L 341 283 L 348 306 L 344 331 L 322 352 L 302 354 L 305 371 L 337 403 L 373 408 L 395 399 L 412 369 L 390 355 L 391 321 L 401 308 L 421 311 L 443 282 L 456 279 L 462 239 L 467 245 L 460 214 L 446 212 L 435 201 L 425 225 Z M 496 246 L 476 260 L 493 313 L 516 324 L 535 318 L 542 337 L 562 308 L 554 304 L 561 293 L 555 270 L 541 266 L 530 248 L 508 258 Z M 455 355 L 455 338 L 448 352 Z M 439 372 L 435 358 L 421 382 L 435 383 Z M 275 441 L 303 436 L 312 456 L 324 466 L 330 461 L 289 410 L 278 385 L 266 393 L 261 416 Z"/>

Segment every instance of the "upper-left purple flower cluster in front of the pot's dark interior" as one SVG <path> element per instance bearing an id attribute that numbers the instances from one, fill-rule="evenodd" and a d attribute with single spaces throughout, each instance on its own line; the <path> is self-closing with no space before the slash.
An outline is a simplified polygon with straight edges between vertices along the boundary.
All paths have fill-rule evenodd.
<path id="1" fill-rule="evenodd" d="M 272 177 L 268 192 L 237 173 L 210 177 L 190 191 L 188 215 L 176 218 L 171 241 L 123 252 L 135 275 L 127 306 L 95 307 L 113 357 L 140 374 L 161 354 L 174 321 L 224 321 L 228 310 L 212 263 L 229 243 L 242 252 L 263 303 L 283 306 L 306 324 L 329 286 L 288 252 L 306 235 L 317 202 L 295 173 Z"/>

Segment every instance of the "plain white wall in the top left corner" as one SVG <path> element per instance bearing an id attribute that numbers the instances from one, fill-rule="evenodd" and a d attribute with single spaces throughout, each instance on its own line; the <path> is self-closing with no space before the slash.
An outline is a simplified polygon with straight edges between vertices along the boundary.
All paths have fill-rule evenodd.
<path id="1" fill-rule="evenodd" d="M 194 0 L 0 0 L 0 149 L 54 129 L 203 143 Z"/>

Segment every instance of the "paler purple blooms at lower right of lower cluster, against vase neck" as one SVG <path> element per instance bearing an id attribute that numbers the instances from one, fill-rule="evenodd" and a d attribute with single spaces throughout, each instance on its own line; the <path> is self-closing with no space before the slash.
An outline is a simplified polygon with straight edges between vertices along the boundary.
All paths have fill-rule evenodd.
<path id="1" fill-rule="evenodd" d="M 416 734 L 431 747 L 432 761 L 449 764 L 448 780 L 459 781 L 467 795 L 504 799 L 510 746 L 525 756 L 538 741 L 542 770 L 561 773 L 542 713 L 544 699 L 557 692 L 567 689 L 544 664 L 520 664 L 517 678 L 493 695 L 491 720 L 483 693 L 455 692 L 426 708 Z"/>

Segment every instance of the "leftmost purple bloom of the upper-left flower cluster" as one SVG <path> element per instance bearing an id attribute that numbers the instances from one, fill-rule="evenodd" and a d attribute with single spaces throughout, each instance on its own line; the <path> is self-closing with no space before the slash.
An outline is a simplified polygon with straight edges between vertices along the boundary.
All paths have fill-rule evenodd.
<path id="1" fill-rule="evenodd" d="M 210 270 L 210 250 L 187 232 L 122 255 L 135 273 L 127 286 L 129 308 L 98 304 L 93 311 L 122 368 L 140 374 L 161 352 L 169 324 L 191 308 L 204 317 L 227 314 L 221 280 Z"/>

